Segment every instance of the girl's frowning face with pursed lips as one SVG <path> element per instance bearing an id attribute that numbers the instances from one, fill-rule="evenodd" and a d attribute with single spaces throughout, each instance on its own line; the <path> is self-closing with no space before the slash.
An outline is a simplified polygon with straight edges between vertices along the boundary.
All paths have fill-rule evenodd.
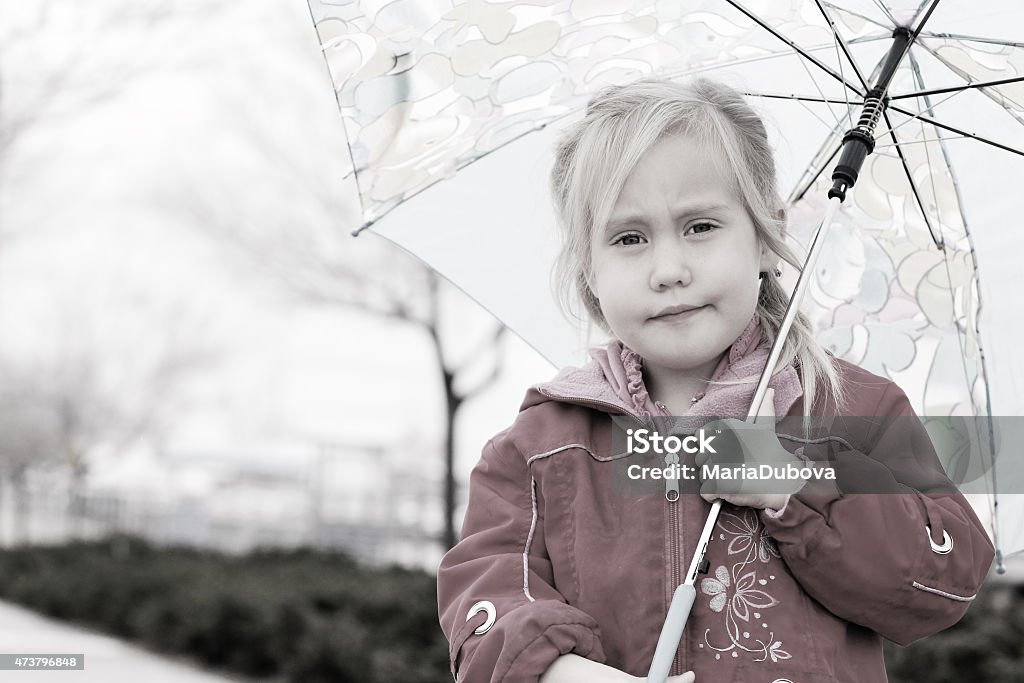
<path id="1" fill-rule="evenodd" d="M 663 137 L 594 231 L 591 286 L 601 311 L 652 373 L 710 378 L 754 315 L 758 273 L 778 261 L 758 244 L 720 170 L 725 161 L 713 154 L 687 135 Z"/>

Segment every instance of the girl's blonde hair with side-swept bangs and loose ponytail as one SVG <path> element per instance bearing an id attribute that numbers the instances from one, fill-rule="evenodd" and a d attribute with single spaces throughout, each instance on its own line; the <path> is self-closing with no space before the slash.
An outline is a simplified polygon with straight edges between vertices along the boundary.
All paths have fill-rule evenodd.
<path id="1" fill-rule="evenodd" d="M 562 228 L 562 249 L 553 273 L 559 304 L 568 316 L 583 319 L 578 309 L 582 303 L 590 318 L 609 334 L 588 282 L 593 231 L 607 223 L 641 157 L 670 134 L 693 136 L 706 148 L 719 152 L 759 244 L 798 270 L 803 265 L 785 243 L 785 211 L 767 131 L 739 92 L 708 79 L 688 84 L 644 79 L 606 87 L 591 99 L 584 119 L 560 139 L 551 193 Z M 775 341 L 788 302 L 778 278 L 768 272 L 761 281 L 757 305 L 763 342 Z M 790 362 L 800 369 L 805 415 L 810 415 L 818 390 L 843 404 L 836 365 L 802 312 L 793 323 L 776 372 Z"/>

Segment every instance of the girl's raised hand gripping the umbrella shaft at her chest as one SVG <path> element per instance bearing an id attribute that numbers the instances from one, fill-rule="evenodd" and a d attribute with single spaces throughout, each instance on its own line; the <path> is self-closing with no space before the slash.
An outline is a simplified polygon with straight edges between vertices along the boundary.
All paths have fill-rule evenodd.
<path id="1" fill-rule="evenodd" d="M 721 430 L 715 435 L 717 454 L 696 456 L 696 474 L 703 481 L 700 497 L 709 503 L 721 499 L 740 507 L 780 510 L 790 495 L 800 490 L 806 482 L 806 479 L 777 475 L 779 472 L 799 472 L 806 463 L 783 449 L 775 435 L 774 389 L 765 393 L 754 424 L 730 418 L 705 425 L 705 430 Z M 714 478 L 712 468 L 716 465 L 719 476 Z M 767 478 L 721 476 L 727 469 L 746 474 L 755 471 L 760 475 L 764 469 L 762 465 L 770 467 L 771 475 Z M 706 478 L 705 474 L 712 476 Z"/>

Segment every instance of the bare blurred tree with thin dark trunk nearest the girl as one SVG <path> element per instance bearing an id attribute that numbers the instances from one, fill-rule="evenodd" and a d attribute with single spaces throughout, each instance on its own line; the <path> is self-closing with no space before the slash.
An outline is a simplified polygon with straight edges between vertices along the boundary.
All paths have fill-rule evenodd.
<path id="1" fill-rule="evenodd" d="M 290 33 L 286 32 L 286 28 Z M 331 81 L 309 17 L 272 45 L 238 46 L 212 87 L 228 120 L 214 168 L 183 161 L 157 194 L 172 211 L 304 304 L 336 306 L 423 333 L 442 392 L 444 549 L 457 541 L 455 425 L 502 367 L 505 328 L 422 262 L 376 234 L 354 240 L 358 196 Z"/>

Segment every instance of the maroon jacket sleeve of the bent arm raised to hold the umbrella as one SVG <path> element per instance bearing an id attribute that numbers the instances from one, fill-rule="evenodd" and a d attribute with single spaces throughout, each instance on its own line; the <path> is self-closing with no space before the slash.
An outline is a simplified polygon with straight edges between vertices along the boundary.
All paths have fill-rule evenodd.
<path id="1" fill-rule="evenodd" d="M 959 621 L 994 549 L 906 395 L 891 384 L 880 409 L 867 454 L 835 454 L 837 481 L 809 482 L 761 519 L 811 597 L 906 645 Z"/>

